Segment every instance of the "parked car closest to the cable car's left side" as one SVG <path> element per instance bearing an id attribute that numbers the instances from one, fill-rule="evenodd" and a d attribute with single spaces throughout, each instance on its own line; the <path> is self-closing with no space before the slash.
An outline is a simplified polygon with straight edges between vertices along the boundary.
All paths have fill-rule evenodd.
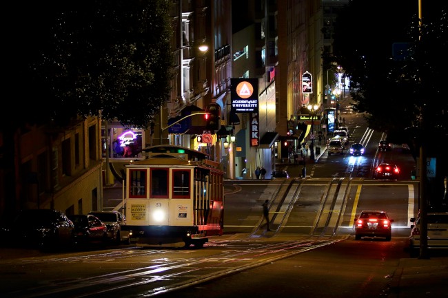
<path id="1" fill-rule="evenodd" d="M 123 213 L 119 211 L 91 211 L 89 214 L 95 215 L 101 222 L 104 222 L 108 226 L 110 240 L 116 244 L 122 242 L 126 244 L 130 243 L 129 231 L 121 231 L 121 226 L 126 224 L 126 217 Z"/>

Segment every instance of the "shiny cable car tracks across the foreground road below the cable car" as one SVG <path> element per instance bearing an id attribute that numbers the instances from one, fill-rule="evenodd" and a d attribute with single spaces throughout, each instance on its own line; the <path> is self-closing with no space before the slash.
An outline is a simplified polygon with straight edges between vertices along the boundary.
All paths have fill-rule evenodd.
<path id="1" fill-rule="evenodd" d="M 260 242 L 256 247 L 247 239 L 232 240 L 224 246 L 225 250 L 216 248 L 219 252 L 216 255 L 199 257 L 177 257 L 175 253 L 179 251 L 148 251 L 143 248 L 130 249 L 126 251 L 125 257 L 121 257 L 121 262 L 138 262 L 141 265 L 144 261 L 147 266 L 111 272 L 106 274 L 94 274 L 79 278 L 54 279 L 33 287 L 25 287 L 12 292 L 4 292 L 2 297 L 26 298 L 26 297 L 152 297 L 172 290 L 179 290 L 195 284 L 201 284 L 224 275 L 262 266 L 278 259 L 283 259 L 298 253 L 312 250 L 321 246 L 333 244 L 343 238 L 333 239 L 305 239 L 285 242 Z M 219 247 L 224 242 L 212 241 L 212 246 Z M 230 248 L 228 244 L 232 244 Z M 75 270 L 70 268 L 71 263 L 79 262 L 79 258 L 87 257 L 92 266 L 103 264 L 114 264 L 117 262 L 118 251 L 110 253 L 99 253 L 94 255 L 77 255 L 74 257 L 61 258 L 33 258 L 19 259 L 22 266 L 61 266 L 64 270 Z M 163 255 L 163 260 L 161 260 Z M 114 256 L 114 257 L 112 257 Z M 147 259 L 150 257 L 150 259 Z M 17 261 L 17 260 L 16 260 Z M 39 265 L 40 264 L 40 265 Z M 38 266 L 39 265 L 39 266 Z M 14 274 L 10 272 L 10 274 Z"/>

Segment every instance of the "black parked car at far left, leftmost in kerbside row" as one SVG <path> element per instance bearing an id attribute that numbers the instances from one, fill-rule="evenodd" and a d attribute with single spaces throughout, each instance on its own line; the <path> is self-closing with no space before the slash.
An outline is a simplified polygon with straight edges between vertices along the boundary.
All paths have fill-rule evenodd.
<path id="1" fill-rule="evenodd" d="M 73 222 L 54 209 L 22 210 L 3 233 L 14 245 L 42 250 L 70 248 L 74 244 Z"/>

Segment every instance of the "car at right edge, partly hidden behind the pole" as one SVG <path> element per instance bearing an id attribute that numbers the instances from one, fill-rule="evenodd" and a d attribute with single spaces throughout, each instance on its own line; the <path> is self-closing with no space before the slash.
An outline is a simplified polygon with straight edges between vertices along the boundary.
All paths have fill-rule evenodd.
<path id="1" fill-rule="evenodd" d="M 448 250 L 448 212 L 429 211 L 427 220 L 427 248 Z M 409 236 L 409 254 L 416 257 L 420 249 L 420 214 L 411 218 L 411 235 Z"/>

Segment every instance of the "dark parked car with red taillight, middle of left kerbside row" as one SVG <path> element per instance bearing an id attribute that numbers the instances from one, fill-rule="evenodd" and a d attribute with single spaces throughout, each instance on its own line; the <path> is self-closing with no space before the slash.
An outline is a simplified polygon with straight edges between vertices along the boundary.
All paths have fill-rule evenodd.
<path id="1" fill-rule="evenodd" d="M 108 226 L 95 215 L 70 215 L 69 218 L 74 224 L 74 240 L 77 245 L 108 242 Z"/>

